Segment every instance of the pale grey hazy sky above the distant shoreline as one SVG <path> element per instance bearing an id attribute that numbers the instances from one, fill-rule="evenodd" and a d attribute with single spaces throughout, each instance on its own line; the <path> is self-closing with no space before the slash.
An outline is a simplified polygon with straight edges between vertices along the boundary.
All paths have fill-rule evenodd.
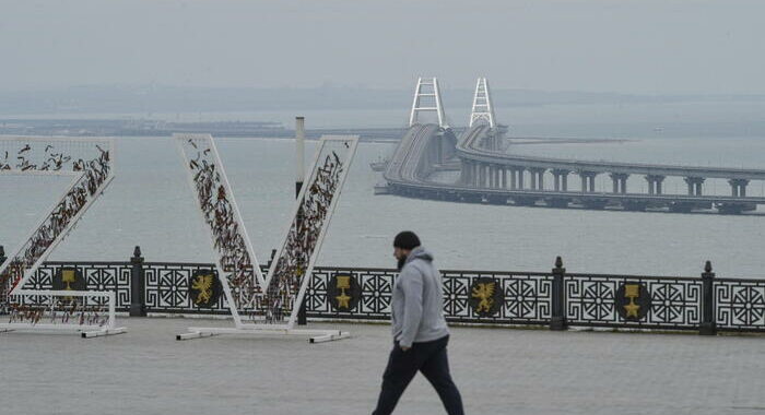
<path id="1" fill-rule="evenodd" d="M 765 1 L 0 0 L 0 90 L 765 93 Z"/>

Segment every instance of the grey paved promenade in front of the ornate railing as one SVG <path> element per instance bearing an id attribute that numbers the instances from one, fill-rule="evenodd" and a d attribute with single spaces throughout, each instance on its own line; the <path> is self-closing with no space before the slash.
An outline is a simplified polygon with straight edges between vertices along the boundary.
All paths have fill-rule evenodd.
<path id="1" fill-rule="evenodd" d="M 388 325 L 353 339 L 215 336 L 222 320 L 120 319 L 129 332 L 83 340 L 0 334 L 0 414 L 369 414 Z M 765 414 L 765 337 L 454 328 L 468 414 Z M 417 376 L 397 414 L 443 410 Z"/>

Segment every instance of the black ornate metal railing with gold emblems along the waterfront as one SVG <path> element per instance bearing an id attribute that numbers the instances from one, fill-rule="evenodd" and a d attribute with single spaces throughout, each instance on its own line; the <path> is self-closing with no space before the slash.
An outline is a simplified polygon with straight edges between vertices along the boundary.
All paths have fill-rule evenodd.
<path id="1" fill-rule="evenodd" d="M 131 316 L 228 313 L 220 289 L 200 296 L 196 287 L 199 275 L 217 278 L 212 264 L 144 262 L 137 247 L 126 262 L 46 262 L 27 288 L 61 289 L 64 274 L 76 289 L 114 290 L 117 310 Z M 449 270 L 442 276 L 451 323 L 765 332 L 765 280 L 717 278 L 708 261 L 701 277 L 566 273 L 560 257 L 549 273 Z M 307 317 L 388 320 L 397 277 L 390 269 L 317 266 Z"/>

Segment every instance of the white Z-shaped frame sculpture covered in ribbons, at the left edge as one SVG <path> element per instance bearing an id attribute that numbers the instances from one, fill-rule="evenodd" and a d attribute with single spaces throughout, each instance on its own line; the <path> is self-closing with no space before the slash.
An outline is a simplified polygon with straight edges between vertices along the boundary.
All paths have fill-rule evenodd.
<path id="1" fill-rule="evenodd" d="M 114 179 L 114 154 L 110 139 L 0 138 L 0 176 L 72 178 L 27 238 L 0 264 L 0 312 L 8 315 L 0 331 L 66 330 L 82 332 L 83 337 L 125 332 L 115 325 L 114 292 L 25 287 Z M 71 288 L 73 282 L 67 281 L 67 286 Z"/>

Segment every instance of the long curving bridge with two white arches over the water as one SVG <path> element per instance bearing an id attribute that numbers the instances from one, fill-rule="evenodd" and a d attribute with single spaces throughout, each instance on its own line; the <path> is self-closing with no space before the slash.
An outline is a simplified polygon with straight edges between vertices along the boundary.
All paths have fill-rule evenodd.
<path id="1" fill-rule="evenodd" d="M 423 92 L 423 85 L 431 91 Z M 431 98 L 433 103 L 423 104 Z M 421 112 L 437 115 L 438 123 L 421 122 Z M 489 84 L 479 79 L 470 127 L 456 138 L 445 123 L 437 79 L 417 81 L 410 127 L 384 171 L 385 192 L 423 199 L 548 208 L 609 209 L 658 212 L 755 211 L 765 198 L 746 194 L 765 169 L 620 163 L 515 154 L 506 147 L 506 127 L 495 123 Z M 435 180 L 433 173 L 456 168 L 454 182 Z M 611 179 L 611 191 L 597 191 L 596 177 Z M 580 186 L 569 188 L 569 177 Z M 639 176 L 647 190 L 628 189 Z M 681 178 L 687 192 L 668 193 L 664 180 Z M 730 194 L 705 194 L 707 179 L 725 179 Z M 634 186 L 633 186 L 634 187 Z M 639 191 L 638 191 L 639 190 Z"/>

